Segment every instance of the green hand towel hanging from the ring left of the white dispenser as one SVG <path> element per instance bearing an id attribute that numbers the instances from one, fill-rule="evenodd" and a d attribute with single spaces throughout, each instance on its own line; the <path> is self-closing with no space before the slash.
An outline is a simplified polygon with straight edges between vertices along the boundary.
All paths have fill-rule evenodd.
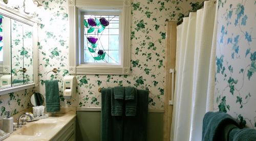
<path id="1" fill-rule="evenodd" d="M 46 80 L 46 111 L 60 110 L 58 80 Z"/>

